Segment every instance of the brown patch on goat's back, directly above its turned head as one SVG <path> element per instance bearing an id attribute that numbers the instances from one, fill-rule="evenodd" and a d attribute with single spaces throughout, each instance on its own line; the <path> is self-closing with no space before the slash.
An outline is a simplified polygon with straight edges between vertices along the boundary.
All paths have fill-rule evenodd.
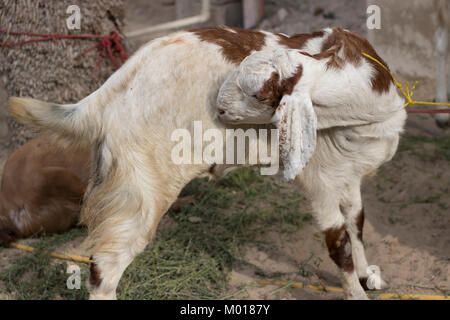
<path id="1" fill-rule="evenodd" d="M 236 65 L 239 65 L 252 51 L 261 50 L 266 38 L 266 35 L 260 31 L 231 27 L 210 27 L 189 31 L 202 41 L 220 46 L 225 58 Z"/>

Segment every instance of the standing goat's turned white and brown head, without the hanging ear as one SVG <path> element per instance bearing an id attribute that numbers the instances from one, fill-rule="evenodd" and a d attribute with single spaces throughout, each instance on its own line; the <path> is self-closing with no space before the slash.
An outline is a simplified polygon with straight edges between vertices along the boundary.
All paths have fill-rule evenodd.
<path id="1" fill-rule="evenodd" d="M 217 98 L 219 118 L 225 123 L 271 122 L 285 94 L 301 77 L 297 50 L 257 51 L 230 73 Z"/>

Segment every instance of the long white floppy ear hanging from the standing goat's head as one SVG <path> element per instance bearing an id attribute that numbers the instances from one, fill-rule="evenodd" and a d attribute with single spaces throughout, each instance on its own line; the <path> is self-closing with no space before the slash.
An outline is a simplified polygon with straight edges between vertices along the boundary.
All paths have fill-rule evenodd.
<path id="1" fill-rule="evenodd" d="M 272 122 L 278 128 L 283 176 L 294 179 L 305 167 L 316 147 L 317 117 L 307 93 L 285 95 Z"/>

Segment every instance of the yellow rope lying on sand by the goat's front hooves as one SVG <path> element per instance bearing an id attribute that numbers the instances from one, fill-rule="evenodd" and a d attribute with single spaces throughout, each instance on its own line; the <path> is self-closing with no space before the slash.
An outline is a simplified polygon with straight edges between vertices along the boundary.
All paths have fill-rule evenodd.
<path id="1" fill-rule="evenodd" d="M 286 281 L 268 281 L 268 280 L 259 280 L 256 281 L 257 284 L 268 286 L 268 285 L 278 285 L 285 286 L 289 288 L 309 288 L 316 291 L 325 291 L 325 292 L 344 292 L 342 288 L 336 287 L 324 287 L 324 286 L 315 286 L 311 284 L 304 284 L 301 282 L 286 282 Z M 401 299 L 401 300 L 409 300 L 409 299 L 417 299 L 417 300 L 450 300 L 449 296 L 438 296 L 438 295 L 429 295 L 429 294 L 397 294 L 397 293 L 370 293 L 367 295 L 369 297 L 379 298 L 383 300 L 387 299 Z"/>

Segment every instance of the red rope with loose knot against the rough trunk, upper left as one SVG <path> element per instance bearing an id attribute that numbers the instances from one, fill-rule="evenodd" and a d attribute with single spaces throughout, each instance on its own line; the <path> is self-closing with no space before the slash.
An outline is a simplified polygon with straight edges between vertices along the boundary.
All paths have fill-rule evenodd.
<path id="1" fill-rule="evenodd" d="M 114 53 L 116 53 L 119 58 L 122 60 L 122 63 L 128 59 L 128 53 L 125 48 L 122 46 L 120 41 L 120 36 L 117 31 L 112 31 L 109 36 L 97 36 L 91 34 L 83 34 L 83 35 L 75 35 L 75 34 L 43 34 L 43 33 L 35 33 L 35 32 L 15 32 L 15 31 L 6 31 L 0 29 L 0 33 L 11 34 L 15 36 L 30 36 L 30 37 L 39 37 L 36 39 L 27 39 L 17 42 L 0 42 L 0 47 L 13 47 L 26 43 L 32 42 L 40 42 L 40 41 L 49 41 L 54 39 L 99 39 L 100 41 L 94 46 L 88 48 L 83 51 L 81 55 L 84 57 L 86 53 L 97 48 L 97 63 L 95 65 L 94 72 L 98 70 L 98 66 L 100 65 L 101 57 L 103 57 L 103 49 L 106 49 L 108 53 L 109 60 L 114 64 L 114 66 L 118 69 L 120 67 L 116 58 L 114 57 Z M 111 47 L 114 46 L 114 51 Z"/>

